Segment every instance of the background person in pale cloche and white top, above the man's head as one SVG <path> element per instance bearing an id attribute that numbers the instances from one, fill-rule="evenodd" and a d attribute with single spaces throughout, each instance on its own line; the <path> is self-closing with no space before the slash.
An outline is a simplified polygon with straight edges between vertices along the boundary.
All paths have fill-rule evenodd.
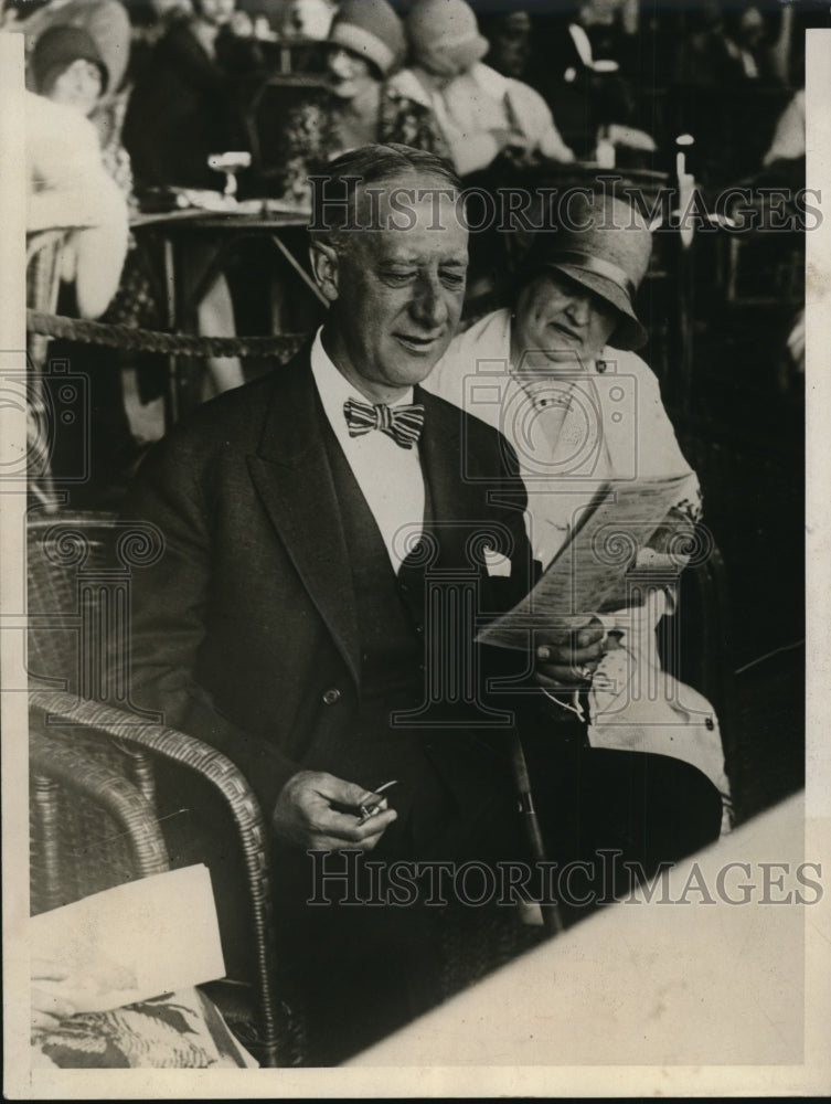
<path id="1" fill-rule="evenodd" d="M 542 96 L 482 64 L 490 44 L 465 0 L 416 0 L 406 31 L 411 66 L 392 84 L 433 112 L 460 176 L 503 152 L 514 161 L 574 160 Z"/>

